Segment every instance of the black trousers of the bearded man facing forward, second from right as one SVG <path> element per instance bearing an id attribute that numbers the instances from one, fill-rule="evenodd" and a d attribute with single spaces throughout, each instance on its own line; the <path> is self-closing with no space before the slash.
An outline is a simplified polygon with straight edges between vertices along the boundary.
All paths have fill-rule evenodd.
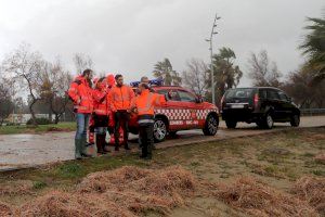
<path id="1" fill-rule="evenodd" d="M 123 141 L 128 144 L 129 139 L 129 120 L 130 114 L 127 111 L 117 111 L 114 115 L 115 127 L 114 127 L 114 138 L 115 145 L 119 145 L 119 127 L 123 129 Z"/>

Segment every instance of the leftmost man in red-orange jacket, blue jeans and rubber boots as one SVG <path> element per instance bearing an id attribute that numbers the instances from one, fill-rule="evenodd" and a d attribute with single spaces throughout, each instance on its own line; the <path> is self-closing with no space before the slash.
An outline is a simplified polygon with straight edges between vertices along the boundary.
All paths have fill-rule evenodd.
<path id="1" fill-rule="evenodd" d="M 82 156 L 90 156 L 86 151 L 87 129 L 90 114 L 93 111 L 92 89 L 91 89 L 92 71 L 83 71 L 72 84 L 68 95 L 74 102 L 74 111 L 77 114 L 77 131 L 75 137 L 75 157 L 80 159 Z"/>

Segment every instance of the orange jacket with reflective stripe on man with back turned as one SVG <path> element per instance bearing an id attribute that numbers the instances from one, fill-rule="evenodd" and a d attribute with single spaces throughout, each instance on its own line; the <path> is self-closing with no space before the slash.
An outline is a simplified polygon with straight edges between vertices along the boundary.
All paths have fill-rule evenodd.
<path id="1" fill-rule="evenodd" d="M 166 103 L 165 95 L 143 90 L 132 102 L 132 106 L 136 107 L 138 115 L 154 115 L 155 106 Z"/>

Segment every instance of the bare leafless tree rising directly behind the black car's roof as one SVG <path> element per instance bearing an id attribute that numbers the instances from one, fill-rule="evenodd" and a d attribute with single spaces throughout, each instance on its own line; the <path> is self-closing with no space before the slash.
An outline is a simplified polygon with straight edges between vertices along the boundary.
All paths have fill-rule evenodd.
<path id="1" fill-rule="evenodd" d="M 252 79 L 253 86 L 261 87 L 280 87 L 282 74 L 278 72 L 276 63 L 271 62 L 265 50 L 258 55 L 251 53 L 249 62 L 249 78 Z"/>

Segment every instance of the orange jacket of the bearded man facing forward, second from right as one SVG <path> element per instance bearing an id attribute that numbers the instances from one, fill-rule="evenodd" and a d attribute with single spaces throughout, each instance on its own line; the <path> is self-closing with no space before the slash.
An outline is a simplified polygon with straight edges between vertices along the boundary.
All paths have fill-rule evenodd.
<path id="1" fill-rule="evenodd" d="M 109 93 L 108 100 L 113 112 L 118 110 L 130 110 L 131 101 L 134 99 L 134 92 L 129 86 L 114 86 Z"/>

